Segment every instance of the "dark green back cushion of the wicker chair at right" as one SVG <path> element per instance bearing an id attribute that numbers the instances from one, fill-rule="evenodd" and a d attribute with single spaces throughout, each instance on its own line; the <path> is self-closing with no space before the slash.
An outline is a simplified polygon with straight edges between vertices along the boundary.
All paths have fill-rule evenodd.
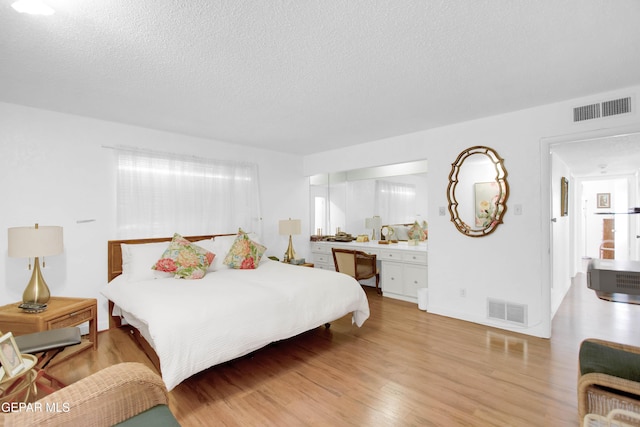
<path id="1" fill-rule="evenodd" d="M 598 372 L 640 382 L 640 354 L 583 341 L 579 357 L 582 375 Z"/>

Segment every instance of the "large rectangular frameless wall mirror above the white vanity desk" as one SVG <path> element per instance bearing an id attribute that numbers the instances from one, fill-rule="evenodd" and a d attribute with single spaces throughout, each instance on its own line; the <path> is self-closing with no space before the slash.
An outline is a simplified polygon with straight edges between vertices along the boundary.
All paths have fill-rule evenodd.
<path id="1" fill-rule="evenodd" d="M 365 219 L 373 216 L 382 224 L 426 221 L 426 160 L 318 174 L 309 184 L 312 235 L 371 236 Z"/>

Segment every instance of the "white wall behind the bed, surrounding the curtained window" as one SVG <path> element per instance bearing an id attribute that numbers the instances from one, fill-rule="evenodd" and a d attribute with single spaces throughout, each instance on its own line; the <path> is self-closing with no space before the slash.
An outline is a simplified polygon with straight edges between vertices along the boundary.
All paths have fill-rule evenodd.
<path id="1" fill-rule="evenodd" d="M 55 296 L 98 298 L 100 329 L 108 327 L 107 240 L 115 236 L 115 156 L 103 146 L 129 145 L 259 165 L 262 240 L 267 255 L 282 256 L 288 239 L 278 220 L 301 218 L 307 230 L 308 180 L 302 158 L 219 141 L 0 103 L 0 304 L 22 299 L 27 260 L 7 257 L 7 228 L 64 227 L 64 254 L 49 257 L 43 275 Z M 92 219 L 93 222 L 77 221 Z M 178 230 L 176 230 L 178 231 Z M 228 230 L 235 232 L 236 230 Z M 294 246 L 306 255 L 307 236 Z"/>

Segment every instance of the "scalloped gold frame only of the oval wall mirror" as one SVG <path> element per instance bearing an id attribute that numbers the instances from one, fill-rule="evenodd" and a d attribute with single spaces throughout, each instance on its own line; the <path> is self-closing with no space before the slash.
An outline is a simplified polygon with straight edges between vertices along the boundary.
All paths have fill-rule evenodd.
<path id="1" fill-rule="evenodd" d="M 496 182 L 500 187 L 500 195 L 496 206 L 496 216 L 491 223 L 484 228 L 472 228 L 466 224 L 458 215 L 458 201 L 456 200 L 456 186 L 458 185 L 458 175 L 464 161 L 475 154 L 484 154 L 489 158 L 496 171 Z M 507 182 L 507 170 L 504 168 L 504 160 L 498 153 L 489 147 L 476 145 L 462 151 L 455 162 L 451 164 L 449 174 L 449 185 L 447 186 L 447 201 L 449 202 L 449 213 L 458 231 L 469 237 L 483 237 L 493 233 L 498 225 L 502 223 L 502 218 L 507 211 L 507 199 L 509 197 L 509 183 Z"/>

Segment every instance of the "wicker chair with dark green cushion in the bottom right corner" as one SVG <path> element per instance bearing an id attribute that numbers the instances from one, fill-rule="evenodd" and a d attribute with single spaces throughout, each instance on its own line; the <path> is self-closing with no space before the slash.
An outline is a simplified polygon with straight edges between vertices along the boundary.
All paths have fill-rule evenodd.
<path id="1" fill-rule="evenodd" d="M 593 356 L 589 351 L 589 344 L 600 349 L 600 360 L 588 360 Z M 612 349 L 616 354 L 607 354 Z M 619 366 L 619 360 L 625 360 L 625 355 L 633 358 L 632 366 Z M 634 355 L 638 355 L 636 358 Z M 622 359 L 621 359 L 622 358 Z M 607 364 L 612 366 L 607 367 Z M 596 369 L 593 369 L 594 366 Z M 640 413 L 640 382 L 623 378 L 620 371 L 632 368 L 636 375 L 640 371 L 640 347 L 619 344 L 598 339 L 586 339 L 580 345 L 580 371 L 578 377 L 578 414 L 580 422 L 585 422 L 585 416 L 595 414 L 607 416 L 615 409 L 622 409 Z M 631 425 L 636 425 L 628 420 Z"/>

